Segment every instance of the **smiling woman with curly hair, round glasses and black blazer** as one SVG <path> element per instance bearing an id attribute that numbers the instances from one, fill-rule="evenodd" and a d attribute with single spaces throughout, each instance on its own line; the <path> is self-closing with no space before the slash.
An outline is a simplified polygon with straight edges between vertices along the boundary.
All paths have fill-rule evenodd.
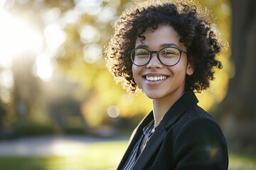
<path id="1" fill-rule="evenodd" d="M 188 4 L 147 4 L 114 26 L 107 67 L 129 92 L 152 99 L 117 169 L 228 169 L 228 149 L 194 92 L 208 89 L 220 44 L 210 23 Z"/>

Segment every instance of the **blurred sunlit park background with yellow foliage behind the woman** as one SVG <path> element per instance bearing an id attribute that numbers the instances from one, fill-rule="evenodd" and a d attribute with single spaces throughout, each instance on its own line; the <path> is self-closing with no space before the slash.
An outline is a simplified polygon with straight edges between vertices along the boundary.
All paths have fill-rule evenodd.
<path id="1" fill-rule="evenodd" d="M 255 1 L 198 4 L 211 12 L 224 65 L 199 105 L 223 128 L 230 169 L 256 169 Z M 148 98 L 128 95 L 105 67 L 112 26 L 132 5 L 0 0 L 0 169 L 116 168 L 151 111 Z"/>

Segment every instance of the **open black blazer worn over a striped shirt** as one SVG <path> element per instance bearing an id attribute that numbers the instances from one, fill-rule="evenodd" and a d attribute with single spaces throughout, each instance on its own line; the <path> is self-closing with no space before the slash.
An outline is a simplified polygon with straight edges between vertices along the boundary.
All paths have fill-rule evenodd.
<path id="1" fill-rule="evenodd" d="M 228 169 L 228 148 L 223 132 L 215 119 L 197 103 L 193 91 L 187 91 L 171 106 L 133 169 Z M 117 169 L 122 169 L 142 129 L 152 119 L 151 112 L 134 130 Z"/>

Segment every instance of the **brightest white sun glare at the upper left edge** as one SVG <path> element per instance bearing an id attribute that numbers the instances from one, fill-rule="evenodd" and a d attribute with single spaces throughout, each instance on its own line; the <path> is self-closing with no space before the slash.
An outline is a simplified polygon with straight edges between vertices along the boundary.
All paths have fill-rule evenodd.
<path id="1" fill-rule="evenodd" d="M 43 37 L 35 29 L 0 9 L 0 65 L 11 67 L 15 57 L 25 52 L 38 53 L 43 48 Z"/>

